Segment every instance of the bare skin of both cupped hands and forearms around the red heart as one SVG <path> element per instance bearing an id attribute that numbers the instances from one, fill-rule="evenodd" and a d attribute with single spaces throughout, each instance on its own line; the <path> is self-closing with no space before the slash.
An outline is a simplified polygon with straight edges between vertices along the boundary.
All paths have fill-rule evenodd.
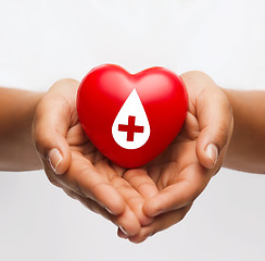
<path id="1" fill-rule="evenodd" d="M 78 82 L 59 80 L 46 95 L 0 89 L 1 170 L 35 170 L 42 162 L 52 184 L 116 224 L 119 237 L 146 240 L 184 219 L 223 162 L 265 170 L 265 94 L 222 90 L 201 72 L 181 77 L 189 94 L 181 132 L 155 160 L 134 170 L 112 164 L 84 134 L 75 108 Z M 216 161 L 209 157 L 210 144 L 217 148 Z M 55 171 L 49 160 L 54 148 L 62 154 Z"/>

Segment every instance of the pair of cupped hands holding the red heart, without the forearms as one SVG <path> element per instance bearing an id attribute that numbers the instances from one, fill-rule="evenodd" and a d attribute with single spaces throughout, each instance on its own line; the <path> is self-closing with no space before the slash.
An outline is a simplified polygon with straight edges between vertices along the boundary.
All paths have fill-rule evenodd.
<path id="1" fill-rule="evenodd" d="M 215 83 L 200 72 L 181 77 L 189 94 L 186 123 L 172 145 L 141 169 L 112 164 L 88 140 L 76 113 L 77 82 L 54 84 L 36 111 L 33 136 L 48 178 L 134 243 L 186 215 L 219 170 L 232 133 L 229 102 Z"/>

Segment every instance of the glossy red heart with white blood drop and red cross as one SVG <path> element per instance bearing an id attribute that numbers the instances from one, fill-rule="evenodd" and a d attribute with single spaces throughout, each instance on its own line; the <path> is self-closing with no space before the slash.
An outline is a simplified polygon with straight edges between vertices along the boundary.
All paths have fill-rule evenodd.
<path id="1" fill-rule="evenodd" d="M 129 74 L 117 65 L 91 70 L 80 83 L 77 112 L 88 138 L 112 162 L 141 166 L 159 156 L 185 122 L 182 79 L 163 67 Z"/>

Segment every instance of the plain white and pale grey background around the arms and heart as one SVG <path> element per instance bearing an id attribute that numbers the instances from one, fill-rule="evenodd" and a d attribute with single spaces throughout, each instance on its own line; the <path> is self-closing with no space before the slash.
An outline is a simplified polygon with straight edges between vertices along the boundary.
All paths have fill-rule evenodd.
<path id="1" fill-rule="evenodd" d="M 265 89 L 264 14 L 264 0 L 0 0 L 0 85 L 47 90 L 108 62 Z M 115 233 L 42 171 L 0 173 L 3 261 L 264 260 L 265 176 L 223 169 L 168 231 L 141 245 Z"/>

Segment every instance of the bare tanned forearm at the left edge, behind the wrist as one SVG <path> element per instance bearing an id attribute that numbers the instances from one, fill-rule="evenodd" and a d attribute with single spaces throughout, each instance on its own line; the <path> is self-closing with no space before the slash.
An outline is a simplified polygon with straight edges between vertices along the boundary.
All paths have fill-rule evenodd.
<path id="1" fill-rule="evenodd" d="M 0 88 L 1 171 L 41 169 L 31 139 L 31 125 L 37 104 L 42 96 L 26 90 Z"/>

